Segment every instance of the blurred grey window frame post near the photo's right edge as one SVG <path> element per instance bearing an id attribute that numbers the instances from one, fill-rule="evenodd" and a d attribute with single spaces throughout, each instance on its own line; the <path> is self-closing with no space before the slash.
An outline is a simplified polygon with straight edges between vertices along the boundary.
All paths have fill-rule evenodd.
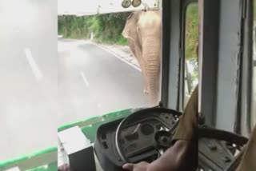
<path id="1" fill-rule="evenodd" d="M 243 135 L 249 135 L 253 126 L 253 102 L 254 102 L 254 66 L 253 66 L 253 27 L 254 27 L 254 2 L 255 0 L 244 0 L 244 23 L 243 24 L 243 53 L 242 53 L 242 78 L 241 78 L 241 105 L 239 110 L 241 116 L 241 130 Z"/>

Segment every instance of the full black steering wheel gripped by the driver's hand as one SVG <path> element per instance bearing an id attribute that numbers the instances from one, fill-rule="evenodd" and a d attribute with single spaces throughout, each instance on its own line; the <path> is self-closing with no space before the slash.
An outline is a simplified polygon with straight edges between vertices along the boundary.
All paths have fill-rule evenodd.
<path id="1" fill-rule="evenodd" d="M 177 127 L 178 125 L 178 117 L 180 117 L 182 115 L 182 113 L 174 110 L 174 109 L 166 109 L 166 108 L 162 108 L 162 107 L 153 107 L 153 108 L 147 108 L 147 109 L 142 109 L 142 110 L 138 110 L 132 114 L 130 114 L 128 117 L 124 118 L 120 124 L 118 125 L 118 129 L 116 130 L 116 135 L 115 135 L 115 145 L 116 145 L 116 149 L 118 152 L 118 155 L 120 156 L 121 160 L 124 163 L 130 163 L 130 159 L 129 157 L 126 156 L 126 154 L 124 153 L 124 149 L 122 147 L 122 131 L 123 129 L 125 129 L 127 127 L 127 125 L 130 124 L 130 122 L 132 122 L 133 120 L 136 121 L 136 118 L 144 118 L 144 117 L 150 117 L 150 115 L 153 114 L 160 114 L 160 113 L 170 113 L 173 115 L 173 117 L 175 118 L 174 121 L 174 125 L 170 126 L 170 125 L 166 125 L 166 127 L 170 127 L 169 130 L 159 130 L 157 133 L 155 133 L 154 138 L 156 143 L 154 143 L 154 149 L 159 149 L 159 147 L 161 147 L 162 149 L 168 148 L 171 145 L 171 141 L 172 141 L 172 131 Z M 140 125 L 140 123 L 138 123 L 138 126 Z M 145 125 L 144 129 L 145 132 L 150 131 L 150 126 Z M 143 129 L 143 128 L 142 128 Z"/>

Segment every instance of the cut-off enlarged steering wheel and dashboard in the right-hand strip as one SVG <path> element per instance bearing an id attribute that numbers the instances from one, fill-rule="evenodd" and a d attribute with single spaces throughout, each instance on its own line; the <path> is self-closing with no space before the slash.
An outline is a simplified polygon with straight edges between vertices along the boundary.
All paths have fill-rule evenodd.
<path id="1" fill-rule="evenodd" d="M 234 171 L 248 138 L 206 125 L 198 128 L 198 165 L 200 170 Z M 238 153 L 236 155 L 236 153 Z"/>

